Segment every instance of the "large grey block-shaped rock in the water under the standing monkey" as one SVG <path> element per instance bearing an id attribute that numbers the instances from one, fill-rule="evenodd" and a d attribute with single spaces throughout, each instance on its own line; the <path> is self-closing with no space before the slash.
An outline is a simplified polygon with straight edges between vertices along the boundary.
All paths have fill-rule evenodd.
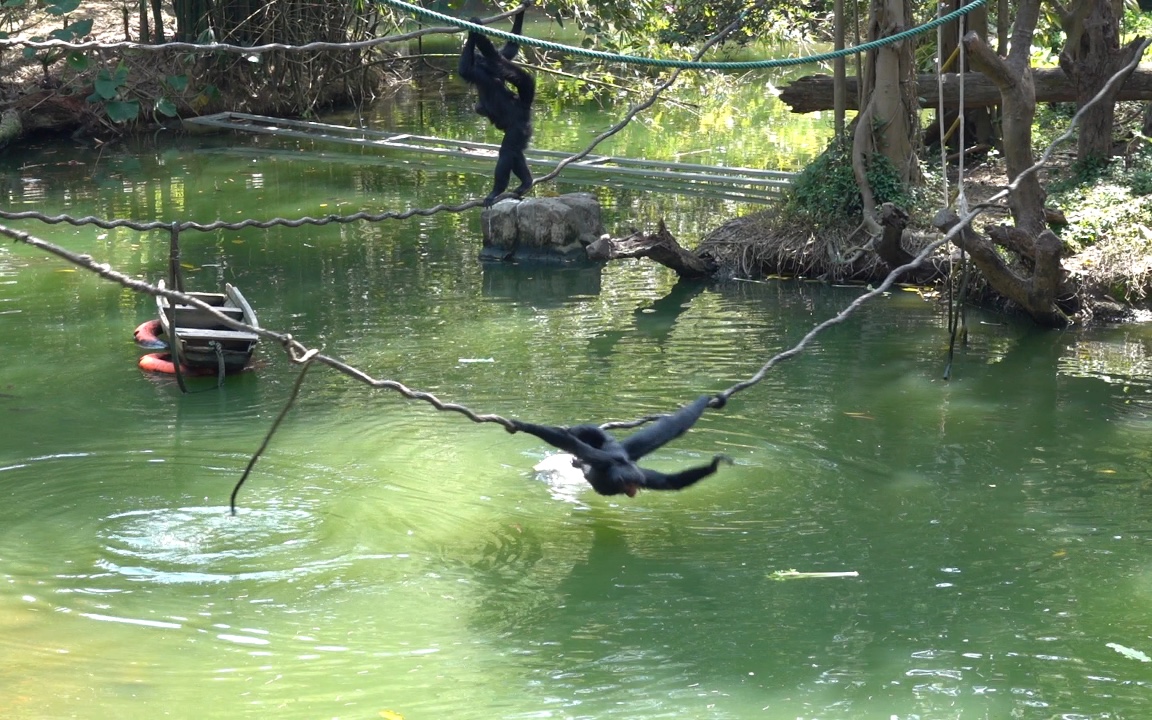
<path id="1" fill-rule="evenodd" d="M 600 204 L 590 192 L 501 200 L 480 213 L 488 260 L 586 260 L 584 248 L 604 235 Z"/>

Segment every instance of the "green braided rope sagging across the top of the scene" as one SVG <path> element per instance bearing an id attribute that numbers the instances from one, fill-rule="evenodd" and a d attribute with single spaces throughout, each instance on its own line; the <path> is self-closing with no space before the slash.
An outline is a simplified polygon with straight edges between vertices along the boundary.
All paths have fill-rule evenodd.
<path id="1" fill-rule="evenodd" d="M 569 55 L 582 55 L 584 58 L 594 58 L 597 60 L 607 60 L 612 62 L 624 62 L 630 65 L 650 65 L 660 68 L 684 68 L 684 69 L 696 69 L 696 70 L 759 70 L 764 68 L 787 68 L 797 65 L 808 65 L 811 62 L 824 62 L 826 60 L 835 60 L 836 58 L 843 58 L 846 55 L 854 55 L 856 53 L 863 53 L 878 47 L 884 47 L 885 45 L 890 45 L 893 43 L 900 43 L 910 37 L 920 35 L 922 32 L 927 32 L 929 30 L 934 30 L 940 25 L 950 23 L 952 21 L 971 13 L 976 8 L 983 6 L 987 0 L 975 0 L 973 2 L 965 5 L 964 7 L 953 10 L 947 15 L 937 17 L 931 22 L 924 23 L 910 30 L 904 30 L 903 32 L 897 32 L 896 35 L 888 36 L 886 38 L 880 38 L 879 40 L 871 40 L 864 43 L 863 45 L 857 45 L 855 47 L 846 47 L 843 50 L 833 51 L 829 53 L 820 53 L 819 55 L 809 55 L 806 58 L 782 58 L 780 60 L 749 60 L 742 62 L 700 62 L 692 60 L 662 60 L 659 58 L 638 58 L 636 55 L 619 55 L 616 53 L 606 53 L 598 50 L 585 50 L 583 47 L 571 47 L 569 45 L 560 45 L 559 43 L 551 43 L 548 40 L 538 40 L 536 38 L 529 38 L 520 35 L 513 35 L 510 32 L 505 32 L 503 30 L 497 30 L 494 28 L 487 28 L 485 25 L 477 25 L 470 23 L 465 20 L 458 20 L 452 17 L 450 15 L 442 15 L 435 10 L 427 10 L 425 8 L 404 2 L 404 0 L 378 0 L 384 5 L 391 5 L 392 7 L 407 10 L 414 15 L 422 15 L 429 20 L 433 20 L 440 23 L 447 23 L 449 25 L 455 25 L 457 28 L 463 28 L 464 30 L 472 30 L 476 32 L 483 32 L 484 35 L 490 35 L 502 40 L 515 40 L 521 45 L 531 45 L 532 47 L 539 47 L 541 50 L 554 50 L 561 53 L 567 53 Z"/>

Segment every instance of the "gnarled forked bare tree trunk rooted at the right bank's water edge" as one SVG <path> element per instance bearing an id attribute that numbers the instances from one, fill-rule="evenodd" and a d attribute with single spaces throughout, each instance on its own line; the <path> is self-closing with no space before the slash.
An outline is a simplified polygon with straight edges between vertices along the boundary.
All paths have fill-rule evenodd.
<path id="1" fill-rule="evenodd" d="M 1056 300 L 1064 294 L 1060 265 L 1060 241 L 1047 230 L 1044 219 L 1045 191 L 1032 166 L 1032 118 L 1036 90 L 1029 66 L 1032 31 L 1039 18 L 1040 0 L 1021 0 L 1011 51 L 1001 58 L 975 32 L 964 36 L 964 47 L 972 67 L 988 76 L 1000 89 L 1005 161 L 1008 179 L 1017 182 L 1008 196 L 1015 227 L 987 229 L 987 236 L 964 228 L 955 243 L 972 256 L 972 263 L 1003 297 L 1018 304 L 1041 325 L 1060 326 L 1067 316 Z M 937 226 L 947 229 L 955 217 L 940 217 Z M 1007 251 L 1007 253 L 1002 251 Z M 1009 264 L 1005 256 L 1016 258 Z"/>

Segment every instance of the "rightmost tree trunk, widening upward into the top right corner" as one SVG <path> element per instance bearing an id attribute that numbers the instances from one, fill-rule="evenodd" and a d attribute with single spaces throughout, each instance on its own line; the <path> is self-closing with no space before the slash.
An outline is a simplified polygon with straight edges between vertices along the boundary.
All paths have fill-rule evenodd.
<path id="1" fill-rule="evenodd" d="M 1113 0 L 1075 0 L 1071 9 L 1059 2 L 1060 24 L 1068 41 L 1060 53 L 1060 68 L 1076 85 L 1076 107 L 1087 105 L 1113 75 L 1132 61 L 1143 38 L 1120 46 L 1120 23 Z M 1076 159 L 1112 158 L 1112 126 L 1116 116 L 1119 85 L 1107 97 L 1087 108 L 1081 118 Z"/>

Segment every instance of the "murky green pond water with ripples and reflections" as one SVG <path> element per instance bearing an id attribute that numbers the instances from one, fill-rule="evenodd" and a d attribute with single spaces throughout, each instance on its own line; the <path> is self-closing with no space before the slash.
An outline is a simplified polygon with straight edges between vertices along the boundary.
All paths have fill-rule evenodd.
<path id="1" fill-rule="evenodd" d="M 427 134 L 485 137 L 462 104 L 401 98 L 372 123 L 434 119 Z M 578 150 L 604 120 L 544 112 L 537 142 Z M 683 136 L 711 161 L 752 152 L 698 126 Z M 46 143 L 0 159 L 0 183 L 10 210 L 211 221 L 422 207 L 488 180 L 225 135 Z M 617 234 L 664 217 L 689 243 L 737 210 L 598 194 Z M 165 272 L 162 233 L 9 225 L 135 276 Z M 188 233 L 182 248 L 189 287 L 237 285 L 266 327 L 445 400 L 555 424 L 728 387 L 862 293 L 676 288 L 643 260 L 482 265 L 478 212 Z M 554 453 L 533 438 L 316 367 L 233 517 L 228 493 L 295 369 L 264 343 L 253 371 L 182 396 L 136 367 L 131 331 L 154 312 L 0 244 L 0 717 L 1152 707 L 1152 664 L 1117 650 L 1152 654 L 1145 327 L 1059 334 L 972 312 L 946 382 L 940 306 L 893 293 L 651 456 L 665 470 L 718 452 L 734 465 L 631 500 L 535 470 Z M 773 579 L 789 569 L 858 576 Z"/>

